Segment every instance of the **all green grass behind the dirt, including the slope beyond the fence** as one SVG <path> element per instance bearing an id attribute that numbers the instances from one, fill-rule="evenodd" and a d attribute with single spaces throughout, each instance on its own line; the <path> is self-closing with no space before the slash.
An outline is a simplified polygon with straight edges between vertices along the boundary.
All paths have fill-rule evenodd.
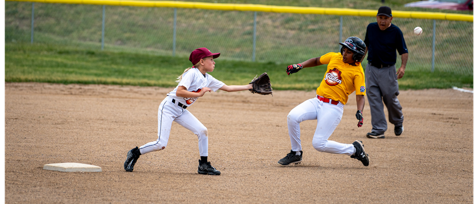
<path id="1" fill-rule="evenodd" d="M 209 3 L 428 11 L 405 8 L 412 0 L 387 1 L 234 1 Z M 101 50 L 102 6 L 35 4 L 34 43 L 30 44 L 31 3 L 5 2 L 5 81 L 103 83 L 140 86 L 176 85 L 189 67 L 189 52 L 207 47 L 221 52 L 211 74 L 226 84 L 246 84 L 268 71 L 275 89 L 311 90 L 319 86 L 326 67 L 287 76 L 288 64 L 339 49 L 339 16 L 258 13 L 256 61 L 252 61 L 253 12 L 178 9 L 176 54 L 172 56 L 172 8 L 107 6 L 105 47 Z M 343 17 L 343 36 L 363 38 L 370 17 Z M 472 87 L 470 22 L 439 21 L 435 72 L 431 73 L 432 21 L 396 19 L 410 52 L 401 89 Z M 412 29 L 422 26 L 422 36 Z M 431 27 L 431 28 L 430 28 Z M 464 31 L 469 32 L 464 32 Z M 412 35 L 410 35 L 412 34 Z M 398 58 L 397 66 L 401 60 Z M 362 63 L 365 67 L 366 61 Z"/>

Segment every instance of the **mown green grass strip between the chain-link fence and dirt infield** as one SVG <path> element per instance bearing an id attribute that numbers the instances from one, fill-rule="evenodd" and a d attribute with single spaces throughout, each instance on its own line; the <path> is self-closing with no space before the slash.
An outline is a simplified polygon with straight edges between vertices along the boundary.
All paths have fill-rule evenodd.
<path id="1" fill-rule="evenodd" d="M 312 67 L 286 75 L 288 64 L 216 59 L 210 74 L 228 85 L 247 84 L 268 71 L 275 89 L 316 89 L 326 71 Z M 44 44 L 5 44 L 6 82 L 119 84 L 174 87 L 176 77 L 191 66 L 188 58 L 78 49 Z M 446 72 L 407 71 L 401 89 L 473 87 L 473 78 Z"/>

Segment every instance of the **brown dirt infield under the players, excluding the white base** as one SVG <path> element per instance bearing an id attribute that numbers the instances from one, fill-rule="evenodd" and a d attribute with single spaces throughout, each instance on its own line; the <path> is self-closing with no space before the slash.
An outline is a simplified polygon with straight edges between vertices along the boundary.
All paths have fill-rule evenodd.
<path id="1" fill-rule="evenodd" d="M 473 94 L 406 90 L 405 132 L 368 139 L 352 94 L 330 140 L 362 140 L 370 165 L 311 145 L 317 121 L 301 123 L 303 162 L 290 150 L 286 116 L 315 91 L 206 93 L 188 110 L 209 131 L 220 176 L 197 173 L 197 137 L 174 123 L 165 150 L 123 170 L 128 150 L 156 140 L 157 109 L 172 88 L 5 83 L 6 203 L 473 203 Z M 43 170 L 77 162 L 102 172 Z"/>

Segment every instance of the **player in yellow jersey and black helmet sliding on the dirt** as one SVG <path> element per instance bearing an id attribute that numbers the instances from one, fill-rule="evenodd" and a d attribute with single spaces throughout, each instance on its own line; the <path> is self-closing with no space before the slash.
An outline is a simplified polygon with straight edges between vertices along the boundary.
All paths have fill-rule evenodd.
<path id="1" fill-rule="evenodd" d="M 326 74 L 321 85 L 316 90 L 317 97 L 308 99 L 290 111 L 287 117 L 288 134 L 290 135 L 291 151 L 278 161 L 281 166 L 302 161 L 299 124 L 306 120 L 318 120 L 318 125 L 312 139 L 312 146 L 320 152 L 345 154 L 369 165 L 369 155 L 365 152 L 362 141 L 352 144 L 342 144 L 328 140 L 341 122 L 344 105 L 349 95 L 356 91 L 357 124 L 363 124 L 362 111 L 365 104 L 365 76 L 360 65 L 365 55 L 365 43 L 357 37 L 349 37 L 342 45 L 341 52 L 330 52 L 321 57 L 308 59 L 300 64 L 289 65 L 288 75 L 296 73 L 303 67 L 313 67 L 327 64 Z"/>

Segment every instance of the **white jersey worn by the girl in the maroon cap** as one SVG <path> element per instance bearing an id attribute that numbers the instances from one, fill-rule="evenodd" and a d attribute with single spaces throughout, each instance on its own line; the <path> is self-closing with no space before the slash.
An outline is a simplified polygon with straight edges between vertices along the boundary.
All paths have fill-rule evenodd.
<path id="1" fill-rule="evenodd" d="M 186 106 L 191 106 L 194 101 L 196 101 L 199 97 L 179 97 L 176 96 L 176 91 L 178 90 L 179 86 L 184 86 L 188 91 L 192 92 L 200 92 L 201 88 L 208 87 L 212 91 L 216 91 L 225 85 L 222 81 L 219 81 L 206 73 L 203 75 L 198 68 L 191 68 L 186 73 L 183 74 L 181 81 L 176 86 L 176 88 L 169 92 L 167 95 L 173 97 L 175 100 L 179 101 L 181 104 Z"/>

